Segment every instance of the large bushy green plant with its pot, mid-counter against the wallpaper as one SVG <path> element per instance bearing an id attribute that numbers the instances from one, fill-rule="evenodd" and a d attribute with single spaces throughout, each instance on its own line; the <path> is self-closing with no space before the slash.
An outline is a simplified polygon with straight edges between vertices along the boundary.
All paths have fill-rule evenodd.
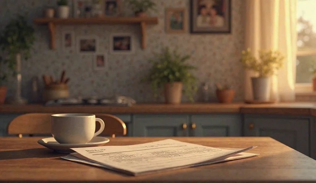
<path id="1" fill-rule="evenodd" d="M 151 83 L 155 97 L 158 96 L 157 90 L 163 87 L 167 104 L 181 103 L 182 88 L 185 85 L 184 91 L 193 102 L 193 93 L 197 91 L 197 86 L 190 71 L 195 67 L 185 63 L 190 56 L 181 56 L 176 49 L 171 52 L 169 47 L 164 47 L 161 54 L 154 55 L 154 59 L 149 60 L 153 65 L 149 73 L 142 78 L 142 82 Z"/>

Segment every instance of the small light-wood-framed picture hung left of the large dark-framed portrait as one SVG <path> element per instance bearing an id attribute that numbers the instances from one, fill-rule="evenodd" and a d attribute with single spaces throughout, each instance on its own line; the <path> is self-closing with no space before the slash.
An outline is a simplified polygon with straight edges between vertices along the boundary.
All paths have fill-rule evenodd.
<path id="1" fill-rule="evenodd" d="M 166 32 L 185 33 L 186 32 L 186 9 L 168 8 L 166 9 Z"/>

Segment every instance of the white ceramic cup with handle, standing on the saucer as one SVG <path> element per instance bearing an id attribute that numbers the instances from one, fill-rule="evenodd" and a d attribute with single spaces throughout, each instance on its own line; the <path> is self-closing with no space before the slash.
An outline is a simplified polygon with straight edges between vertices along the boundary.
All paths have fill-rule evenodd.
<path id="1" fill-rule="evenodd" d="M 97 132 L 96 121 L 100 123 Z M 84 144 L 104 130 L 104 121 L 95 118 L 94 114 L 53 114 L 51 130 L 52 136 L 60 144 Z"/>

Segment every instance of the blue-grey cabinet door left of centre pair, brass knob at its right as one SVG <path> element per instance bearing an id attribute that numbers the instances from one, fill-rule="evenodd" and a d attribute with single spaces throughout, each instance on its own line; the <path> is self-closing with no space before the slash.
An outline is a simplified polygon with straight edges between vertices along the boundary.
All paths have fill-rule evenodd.
<path id="1" fill-rule="evenodd" d="M 135 115 L 133 136 L 187 136 L 186 115 Z"/>

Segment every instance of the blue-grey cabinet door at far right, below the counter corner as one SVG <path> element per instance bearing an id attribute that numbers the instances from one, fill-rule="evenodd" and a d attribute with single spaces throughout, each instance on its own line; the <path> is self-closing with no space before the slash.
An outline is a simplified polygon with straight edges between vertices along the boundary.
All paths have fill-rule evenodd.
<path id="1" fill-rule="evenodd" d="M 272 137 L 309 156 L 309 121 L 309 118 L 245 115 L 244 134 Z"/>

